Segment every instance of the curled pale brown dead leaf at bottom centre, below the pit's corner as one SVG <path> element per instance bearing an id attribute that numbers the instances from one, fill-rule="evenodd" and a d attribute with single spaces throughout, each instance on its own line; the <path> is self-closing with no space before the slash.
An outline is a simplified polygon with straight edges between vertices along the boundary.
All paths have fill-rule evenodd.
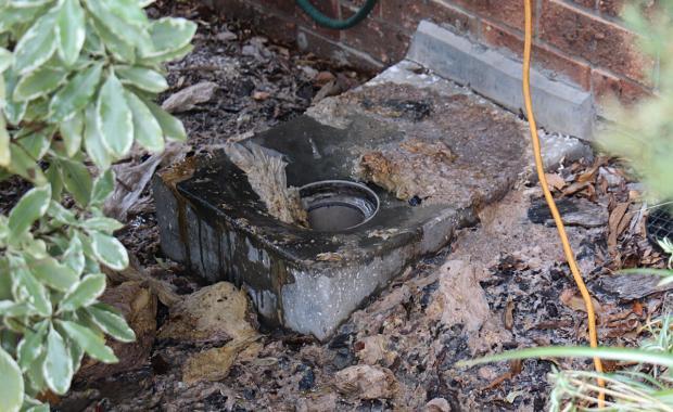
<path id="1" fill-rule="evenodd" d="M 391 399 L 397 391 L 397 381 L 390 369 L 360 364 L 336 372 L 334 386 L 359 399 Z"/>

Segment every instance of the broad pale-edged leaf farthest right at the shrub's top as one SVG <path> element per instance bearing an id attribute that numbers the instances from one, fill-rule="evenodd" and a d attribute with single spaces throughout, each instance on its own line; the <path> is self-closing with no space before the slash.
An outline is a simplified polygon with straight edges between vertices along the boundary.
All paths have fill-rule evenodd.
<path id="1" fill-rule="evenodd" d="M 154 51 L 143 54 L 143 57 L 153 57 L 180 50 L 189 46 L 195 33 L 196 25 L 185 18 L 163 17 L 154 21 L 150 25 L 150 37 L 154 44 Z"/>

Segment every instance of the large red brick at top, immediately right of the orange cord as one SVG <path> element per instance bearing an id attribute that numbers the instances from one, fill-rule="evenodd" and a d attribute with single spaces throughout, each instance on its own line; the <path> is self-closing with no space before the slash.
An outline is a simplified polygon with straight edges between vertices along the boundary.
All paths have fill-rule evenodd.
<path id="1" fill-rule="evenodd" d="M 591 63 L 648 83 L 652 59 L 639 53 L 636 35 L 558 0 L 545 0 L 541 37 Z"/>

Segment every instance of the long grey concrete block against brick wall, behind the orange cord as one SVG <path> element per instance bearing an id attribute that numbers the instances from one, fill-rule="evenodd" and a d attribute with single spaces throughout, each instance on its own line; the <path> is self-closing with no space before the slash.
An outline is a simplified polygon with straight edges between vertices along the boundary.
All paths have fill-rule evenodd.
<path id="1" fill-rule="evenodd" d="M 523 113 L 522 64 L 499 51 L 423 21 L 414 35 L 407 59 L 515 113 Z M 585 140 L 593 138 L 596 111 L 591 93 L 535 69 L 531 85 L 539 126 Z"/>

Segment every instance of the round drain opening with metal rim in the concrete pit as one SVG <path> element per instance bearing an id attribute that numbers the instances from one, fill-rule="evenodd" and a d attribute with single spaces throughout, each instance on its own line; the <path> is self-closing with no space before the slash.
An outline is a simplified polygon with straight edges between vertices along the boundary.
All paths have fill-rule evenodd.
<path id="1" fill-rule="evenodd" d="M 325 180 L 300 189 L 310 229 L 338 232 L 369 221 L 379 211 L 379 196 L 364 184 Z"/>

